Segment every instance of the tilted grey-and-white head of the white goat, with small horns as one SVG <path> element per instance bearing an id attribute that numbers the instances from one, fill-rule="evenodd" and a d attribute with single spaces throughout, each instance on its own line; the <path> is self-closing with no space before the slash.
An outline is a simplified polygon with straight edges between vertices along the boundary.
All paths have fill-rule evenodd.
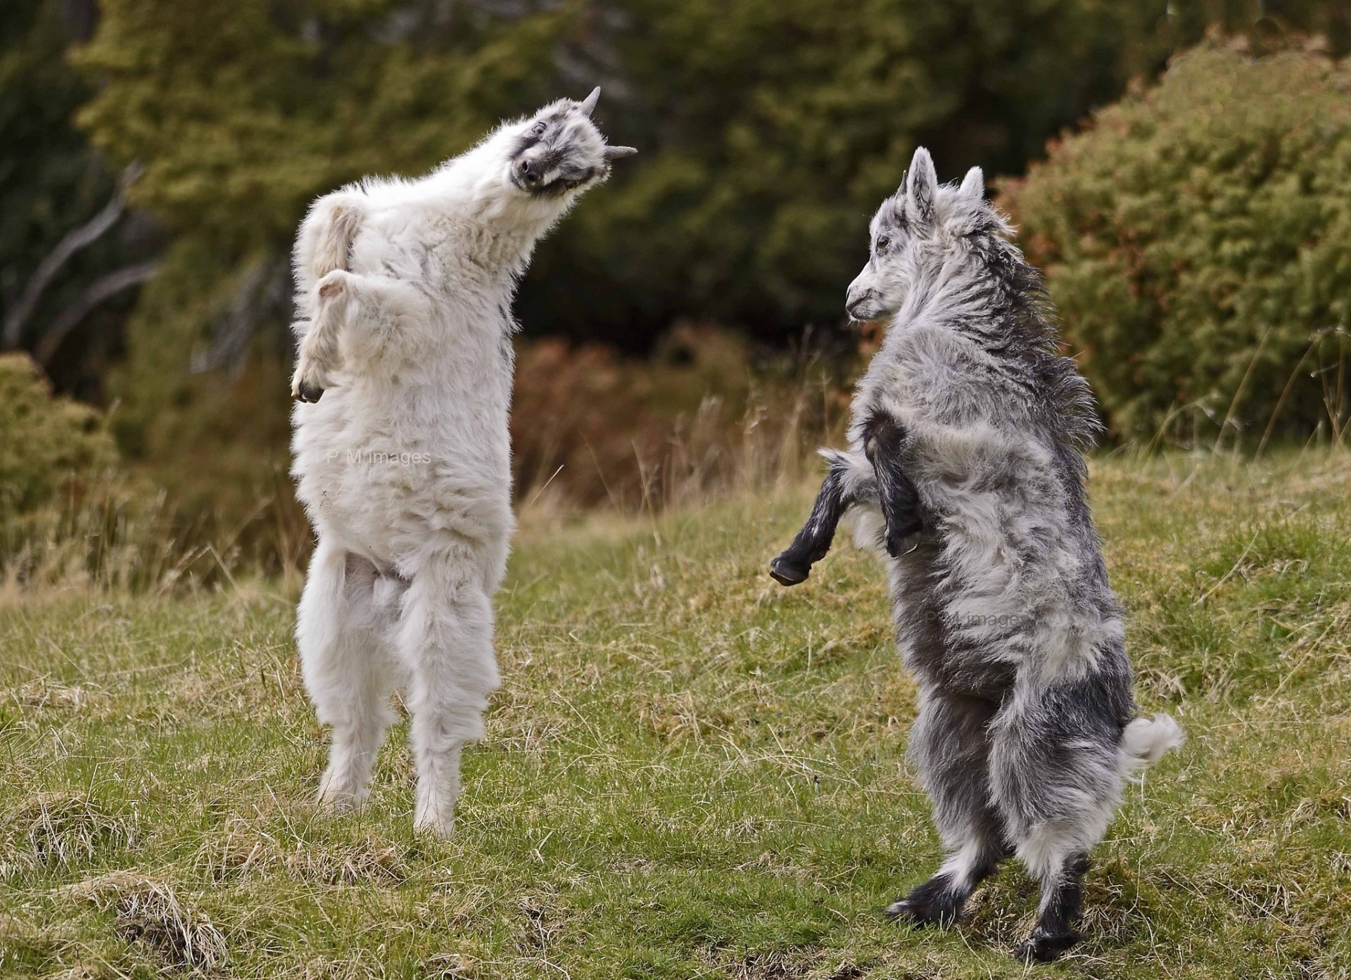
<path id="1" fill-rule="evenodd" d="M 534 197 L 561 197 L 609 177 L 611 161 L 638 153 L 608 146 L 590 119 L 600 89 L 584 101 L 559 99 L 519 124 L 511 151 L 511 181 Z"/>

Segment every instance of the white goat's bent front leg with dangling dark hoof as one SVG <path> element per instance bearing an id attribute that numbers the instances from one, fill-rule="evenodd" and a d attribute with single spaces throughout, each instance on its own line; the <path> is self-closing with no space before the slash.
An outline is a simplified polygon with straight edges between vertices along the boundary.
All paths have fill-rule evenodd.
<path id="1" fill-rule="evenodd" d="M 347 352 L 358 362 L 380 356 L 400 332 L 431 315 L 430 302 L 412 283 L 385 275 L 335 269 L 315 283 L 315 319 L 300 340 L 290 394 L 319 401 Z"/>

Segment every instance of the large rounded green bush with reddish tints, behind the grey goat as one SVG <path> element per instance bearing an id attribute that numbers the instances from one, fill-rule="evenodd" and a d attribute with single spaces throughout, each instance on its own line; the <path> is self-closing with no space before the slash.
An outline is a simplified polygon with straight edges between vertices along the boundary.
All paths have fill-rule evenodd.
<path id="1" fill-rule="evenodd" d="M 1002 202 L 1117 436 L 1340 436 L 1351 72 L 1239 45 L 1177 57 Z"/>

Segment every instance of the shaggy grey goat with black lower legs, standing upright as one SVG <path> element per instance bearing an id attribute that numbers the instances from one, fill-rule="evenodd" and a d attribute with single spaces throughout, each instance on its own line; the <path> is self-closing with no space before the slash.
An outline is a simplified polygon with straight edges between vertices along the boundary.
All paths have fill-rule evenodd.
<path id="1" fill-rule="evenodd" d="M 921 147 L 873 219 L 847 305 L 890 327 L 854 397 L 851 450 L 827 454 L 812 514 L 770 574 L 802 582 L 848 509 L 886 552 L 920 688 L 909 755 L 948 850 L 886 911 L 955 922 L 1016 854 L 1042 886 L 1017 953 L 1046 961 L 1079 940 L 1088 854 L 1125 779 L 1182 733 L 1138 717 L 1084 486 L 1093 397 L 984 190 L 979 169 L 940 188 Z"/>

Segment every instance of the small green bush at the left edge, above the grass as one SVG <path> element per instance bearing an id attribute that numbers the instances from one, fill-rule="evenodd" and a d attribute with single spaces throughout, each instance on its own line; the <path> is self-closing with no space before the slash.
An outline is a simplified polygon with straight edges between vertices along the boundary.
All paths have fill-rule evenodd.
<path id="1" fill-rule="evenodd" d="M 26 354 L 0 356 L 0 518 L 9 525 L 116 460 L 93 409 L 55 398 Z"/>

